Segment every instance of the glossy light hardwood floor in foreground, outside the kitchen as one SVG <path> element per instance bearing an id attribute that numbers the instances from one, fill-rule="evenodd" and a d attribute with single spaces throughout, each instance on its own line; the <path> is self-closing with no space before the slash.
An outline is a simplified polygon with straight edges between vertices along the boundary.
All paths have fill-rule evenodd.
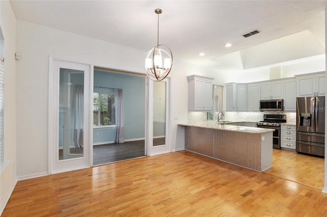
<path id="1" fill-rule="evenodd" d="M 327 194 L 188 151 L 18 181 L 5 216 L 327 216 Z"/>

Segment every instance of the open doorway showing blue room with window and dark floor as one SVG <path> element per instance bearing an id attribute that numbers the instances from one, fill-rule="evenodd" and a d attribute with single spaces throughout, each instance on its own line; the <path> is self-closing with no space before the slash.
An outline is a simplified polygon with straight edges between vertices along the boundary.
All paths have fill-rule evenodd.
<path id="1" fill-rule="evenodd" d="M 95 67 L 93 94 L 93 165 L 146 156 L 145 75 Z"/>

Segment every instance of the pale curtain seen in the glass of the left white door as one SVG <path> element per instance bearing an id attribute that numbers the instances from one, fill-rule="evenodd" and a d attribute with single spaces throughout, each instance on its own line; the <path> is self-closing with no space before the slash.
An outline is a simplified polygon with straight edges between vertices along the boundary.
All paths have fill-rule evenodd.
<path id="1" fill-rule="evenodd" d="M 84 116 L 84 86 L 76 85 L 73 105 L 73 143 L 74 148 L 81 148 L 83 144 L 83 116 Z"/>

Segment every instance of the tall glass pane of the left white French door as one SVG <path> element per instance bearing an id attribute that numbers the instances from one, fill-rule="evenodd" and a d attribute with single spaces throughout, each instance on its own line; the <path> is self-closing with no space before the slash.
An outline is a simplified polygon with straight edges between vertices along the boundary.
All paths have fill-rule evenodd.
<path id="1" fill-rule="evenodd" d="M 60 68 L 58 159 L 84 156 L 84 72 Z"/>

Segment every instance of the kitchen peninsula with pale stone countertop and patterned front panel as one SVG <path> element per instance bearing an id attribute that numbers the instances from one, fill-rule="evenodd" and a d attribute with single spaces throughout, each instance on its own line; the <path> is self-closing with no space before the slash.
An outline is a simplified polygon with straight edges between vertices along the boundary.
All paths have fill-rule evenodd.
<path id="1" fill-rule="evenodd" d="M 185 128 L 185 150 L 258 172 L 271 167 L 273 129 L 214 121 L 178 125 Z"/>

